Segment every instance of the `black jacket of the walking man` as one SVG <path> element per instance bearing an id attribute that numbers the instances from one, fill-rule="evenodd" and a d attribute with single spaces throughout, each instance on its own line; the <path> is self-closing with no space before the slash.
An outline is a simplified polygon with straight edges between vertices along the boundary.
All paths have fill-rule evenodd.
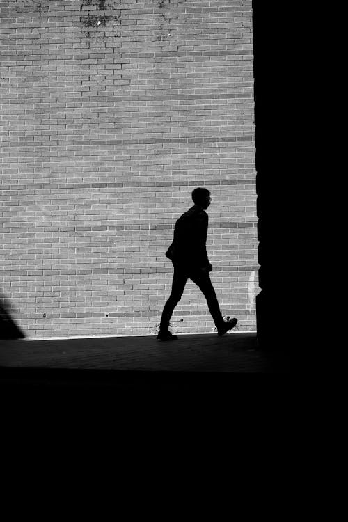
<path id="1" fill-rule="evenodd" d="M 166 252 L 166 257 L 173 264 L 191 269 L 205 267 L 212 270 L 206 248 L 208 221 L 207 212 L 196 205 L 177 219 L 173 243 Z"/>

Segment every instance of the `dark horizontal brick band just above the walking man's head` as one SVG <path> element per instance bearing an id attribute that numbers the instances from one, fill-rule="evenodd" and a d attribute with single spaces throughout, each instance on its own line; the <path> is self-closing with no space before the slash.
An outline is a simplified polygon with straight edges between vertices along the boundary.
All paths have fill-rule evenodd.
<path id="1" fill-rule="evenodd" d="M 255 176 L 254 176 L 255 178 Z M 153 181 L 153 182 L 91 182 L 91 183 L 29 183 L 3 185 L 2 191 L 19 190 L 42 190 L 42 189 L 116 189 L 127 187 L 193 187 L 193 186 L 212 186 L 212 185 L 255 185 L 252 180 L 182 180 L 182 181 Z"/>

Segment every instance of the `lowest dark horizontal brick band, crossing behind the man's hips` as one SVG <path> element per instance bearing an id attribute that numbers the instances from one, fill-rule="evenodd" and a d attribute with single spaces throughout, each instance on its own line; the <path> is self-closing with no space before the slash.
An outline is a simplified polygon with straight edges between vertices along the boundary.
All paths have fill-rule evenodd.
<path id="1" fill-rule="evenodd" d="M 259 269 L 259 265 L 248 267 L 226 266 L 214 267 L 214 272 L 251 272 Z M 0 277 L 11 276 L 87 276 L 90 274 L 168 274 L 173 272 L 173 267 L 152 268 L 95 268 L 95 269 L 52 269 L 52 270 L 1 270 Z"/>

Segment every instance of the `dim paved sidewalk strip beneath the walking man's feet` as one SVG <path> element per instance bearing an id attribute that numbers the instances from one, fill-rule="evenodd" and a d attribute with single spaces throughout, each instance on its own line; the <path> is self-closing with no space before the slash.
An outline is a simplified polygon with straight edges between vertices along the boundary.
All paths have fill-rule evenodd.
<path id="1" fill-rule="evenodd" d="M 256 333 L 61 340 L 1 340 L 0 379 L 52 383 L 184 386 L 190 379 L 227 379 L 235 373 L 289 372 L 279 354 L 258 350 Z M 180 379 L 179 379 L 180 378 Z"/>

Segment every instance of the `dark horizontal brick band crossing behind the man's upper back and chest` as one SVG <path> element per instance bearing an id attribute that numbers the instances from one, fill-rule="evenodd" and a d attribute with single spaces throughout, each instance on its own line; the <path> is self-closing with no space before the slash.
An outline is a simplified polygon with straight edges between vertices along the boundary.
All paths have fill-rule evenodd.
<path id="1" fill-rule="evenodd" d="M 173 230 L 175 223 L 151 224 L 146 223 L 142 225 L 77 225 L 77 226 L 29 226 L 29 227 L 3 227 L 0 232 L 3 234 L 25 234 L 25 233 L 40 233 L 40 232 L 104 232 L 114 230 Z M 211 223 L 209 228 L 256 228 L 258 223 L 256 221 L 245 221 L 241 223 Z"/>

